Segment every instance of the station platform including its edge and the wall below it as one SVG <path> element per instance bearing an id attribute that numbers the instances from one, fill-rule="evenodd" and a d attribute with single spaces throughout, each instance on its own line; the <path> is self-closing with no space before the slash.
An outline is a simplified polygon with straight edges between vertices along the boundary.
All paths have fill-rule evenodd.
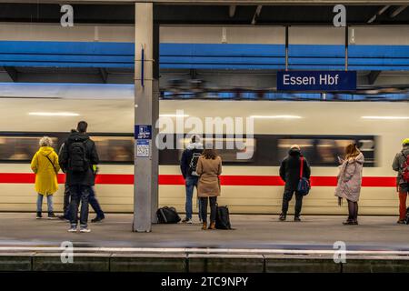
<path id="1" fill-rule="evenodd" d="M 291 217 L 288 217 L 291 218 Z M 155 225 L 133 233 L 132 215 L 108 214 L 91 233 L 68 233 L 68 223 L 34 214 L 0 214 L 0 271 L 138 272 L 409 272 L 409 228 L 396 217 L 231 216 L 234 230 L 203 231 L 200 224 Z M 63 264 L 64 241 L 74 263 Z M 346 245 L 346 263 L 334 262 L 334 242 Z"/>

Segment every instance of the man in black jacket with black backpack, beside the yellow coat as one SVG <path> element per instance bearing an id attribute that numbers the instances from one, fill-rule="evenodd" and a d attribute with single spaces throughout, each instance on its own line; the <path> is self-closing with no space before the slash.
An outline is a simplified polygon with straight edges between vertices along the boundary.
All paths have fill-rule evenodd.
<path id="1" fill-rule="evenodd" d="M 78 225 L 78 206 L 81 202 L 80 232 L 90 232 L 88 228 L 88 200 L 91 186 L 94 185 L 93 166 L 99 163 L 95 143 L 86 135 L 88 124 L 80 121 L 77 132 L 71 133 L 59 156 L 60 166 L 66 173 L 66 185 L 69 186 L 71 201 L 69 206 L 71 227 L 76 232 Z"/>

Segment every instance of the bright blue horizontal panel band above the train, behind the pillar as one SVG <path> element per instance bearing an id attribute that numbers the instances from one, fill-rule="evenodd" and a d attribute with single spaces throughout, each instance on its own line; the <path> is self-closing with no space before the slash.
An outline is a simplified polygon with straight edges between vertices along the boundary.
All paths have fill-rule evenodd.
<path id="1" fill-rule="evenodd" d="M 289 45 L 291 70 L 343 70 L 344 45 Z M 0 41 L 2 66 L 134 67 L 135 45 Z M 409 70 L 409 45 L 350 45 L 350 70 Z M 284 69 L 284 45 L 161 44 L 161 68 Z"/>

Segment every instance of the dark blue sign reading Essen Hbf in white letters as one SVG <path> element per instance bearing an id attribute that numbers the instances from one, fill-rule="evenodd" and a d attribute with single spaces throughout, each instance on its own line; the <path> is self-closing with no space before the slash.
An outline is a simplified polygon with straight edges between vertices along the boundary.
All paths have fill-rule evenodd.
<path id="1" fill-rule="evenodd" d="M 279 71 L 278 91 L 354 91 L 355 71 Z"/>

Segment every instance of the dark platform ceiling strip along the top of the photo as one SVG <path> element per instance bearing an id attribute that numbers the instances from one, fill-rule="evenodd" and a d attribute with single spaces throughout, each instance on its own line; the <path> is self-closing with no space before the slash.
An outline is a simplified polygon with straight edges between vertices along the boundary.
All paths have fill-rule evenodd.
<path id="1" fill-rule="evenodd" d="M 345 4 L 352 2 L 363 1 L 344 1 Z M 346 5 L 347 23 L 409 25 L 409 8 L 405 5 L 386 5 L 388 1 L 383 3 Z M 135 23 L 133 4 L 117 4 L 114 1 L 73 6 L 75 23 Z M 59 4 L 0 3 L 0 22 L 59 23 L 60 17 Z M 155 5 L 155 23 L 161 25 L 331 25 L 333 17 L 333 5 Z"/>

